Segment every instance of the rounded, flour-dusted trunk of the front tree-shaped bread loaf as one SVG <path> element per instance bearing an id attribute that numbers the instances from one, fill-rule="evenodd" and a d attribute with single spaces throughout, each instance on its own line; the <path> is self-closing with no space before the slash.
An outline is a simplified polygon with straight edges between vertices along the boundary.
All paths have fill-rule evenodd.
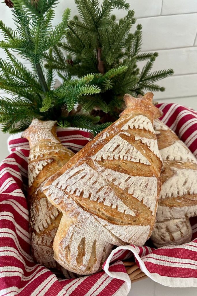
<path id="1" fill-rule="evenodd" d="M 113 244 L 106 242 L 105 231 L 102 231 L 102 226 L 89 213 L 84 212 L 83 218 L 84 221 L 80 223 L 79 219 L 63 215 L 53 242 L 53 251 L 54 259 L 65 269 L 79 275 L 90 275 L 102 270 L 102 264 L 110 255 Z M 79 239 L 76 239 L 76 228 L 81 231 L 85 229 L 89 237 L 81 237 L 79 234 Z M 91 235 L 92 229 L 95 231 L 94 237 Z M 67 239 L 68 244 L 65 242 Z M 87 248 L 89 252 L 85 252 Z"/>

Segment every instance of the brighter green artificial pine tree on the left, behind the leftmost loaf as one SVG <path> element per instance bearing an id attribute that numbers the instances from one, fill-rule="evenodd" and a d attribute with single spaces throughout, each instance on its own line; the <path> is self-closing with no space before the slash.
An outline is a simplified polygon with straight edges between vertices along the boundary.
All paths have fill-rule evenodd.
<path id="1" fill-rule="evenodd" d="M 54 89 L 54 70 L 44 68 L 44 55 L 47 52 L 48 57 L 52 57 L 51 47 L 56 48 L 66 34 L 70 10 L 63 12 L 61 22 L 52 29 L 56 0 L 5 0 L 5 3 L 12 9 L 16 30 L 6 27 L 0 20 L 4 37 L 0 47 L 7 57 L 6 60 L 0 58 L 0 89 L 12 95 L 11 99 L 0 99 L 2 131 L 22 131 L 32 118 L 58 120 L 64 126 L 73 122 L 73 125 L 87 127 L 94 133 L 105 128 L 106 124 L 96 124 L 99 117 L 80 115 L 77 120 L 69 114 L 76 102 L 84 102 L 84 95 L 100 92 L 91 82 L 93 74 L 66 79 Z M 27 60 L 32 70 L 28 70 L 12 51 Z"/>

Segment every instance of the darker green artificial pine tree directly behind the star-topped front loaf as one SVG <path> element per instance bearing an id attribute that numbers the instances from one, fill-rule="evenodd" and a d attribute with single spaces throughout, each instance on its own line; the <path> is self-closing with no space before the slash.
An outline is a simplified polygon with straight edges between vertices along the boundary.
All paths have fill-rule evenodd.
<path id="1" fill-rule="evenodd" d="M 173 70 L 150 72 L 158 54 L 140 53 L 142 26 L 137 25 L 131 33 L 136 18 L 125 0 L 103 0 L 101 7 L 99 0 L 75 0 L 75 3 L 80 20 L 75 16 L 68 22 L 66 42 L 59 42 L 53 47 L 53 54 L 45 54 L 45 58 L 47 69 L 57 70 L 63 81 L 95 73 L 91 83 L 101 92 L 84 96 L 80 112 L 102 114 L 102 122 L 116 120 L 125 93 L 137 96 L 145 91 L 165 90 L 155 82 L 172 75 Z M 116 21 L 111 15 L 114 8 L 128 12 Z M 139 61 L 147 61 L 141 71 L 137 67 Z"/>

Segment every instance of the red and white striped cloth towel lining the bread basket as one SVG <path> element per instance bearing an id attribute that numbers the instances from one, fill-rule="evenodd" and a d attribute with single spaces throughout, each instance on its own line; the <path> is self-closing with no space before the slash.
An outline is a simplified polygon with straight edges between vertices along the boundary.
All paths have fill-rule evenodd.
<path id="1" fill-rule="evenodd" d="M 197 156 L 197 113 L 177 104 L 157 105 L 162 121 L 172 128 Z M 74 152 L 89 141 L 89 133 L 58 129 L 62 143 Z M 20 135 L 9 139 L 11 154 L 0 167 L 0 295 L 126 296 L 131 281 L 121 260 L 132 253 L 142 271 L 170 287 L 197 287 L 197 218 L 191 219 L 193 241 L 159 249 L 134 245 L 117 247 L 91 276 L 58 280 L 31 257 L 29 215 L 24 188 L 27 184 L 29 144 Z M 143 281 L 142 281 L 143 284 Z"/>

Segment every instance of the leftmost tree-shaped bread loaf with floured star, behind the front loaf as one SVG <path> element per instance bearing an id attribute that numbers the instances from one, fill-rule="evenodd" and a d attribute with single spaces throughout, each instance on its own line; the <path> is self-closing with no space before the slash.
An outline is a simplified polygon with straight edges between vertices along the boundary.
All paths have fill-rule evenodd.
<path id="1" fill-rule="evenodd" d="M 22 136 L 30 143 L 27 198 L 30 209 L 32 256 L 48 268 L 58 268 L 53 259 L 53 239 L 62 213 L 48 201 L 42 186 L 74 153 L 61 144 L 56 136 L 56 122 L 52 120 L 32 120 Z"/>

